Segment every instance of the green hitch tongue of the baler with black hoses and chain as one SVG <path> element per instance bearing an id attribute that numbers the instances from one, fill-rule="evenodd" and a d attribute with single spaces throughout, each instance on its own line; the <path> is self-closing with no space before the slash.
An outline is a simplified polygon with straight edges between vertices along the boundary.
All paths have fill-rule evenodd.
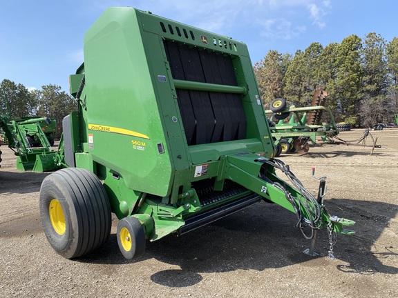
<path id="1" fill-rule="evenodd" d="M 353 226 L 355 221 L 343 219 L 337 216 L 330 216 L 323 205 L 323 196 L 316 199 L 308 190 L 306 190 L 297 179 L 289 166 L 278 159 L 266 159 L 254 154 L 229 155 L 222 159 L 223 171 L 218 180 L 229 179 L 245 188 L 256 192 L 263 197 L 265 201 L 277 203 L 278 205 L 296 213 L 299 219 L 297 227 L 301 229 L 306 239 L 316 239 L 316 232 L 327 227 L 330 237 L 329 256 L 332 255 L 332 246 L 335 243 L 336 233 L 353 235 L 353 230 L 345 229 L 345 226 Z M 292 182 L 290 184 L 278 178 L 275 169 L 281 170 Z M 325 188 L 325 182 L 321 184 Z M 324 192 L 321 189 L 319 193 Z M 310 234 L 307 235 L 305 228 L 310 228 Z M 312 252 L 313 249 L 310 249 Z"/>

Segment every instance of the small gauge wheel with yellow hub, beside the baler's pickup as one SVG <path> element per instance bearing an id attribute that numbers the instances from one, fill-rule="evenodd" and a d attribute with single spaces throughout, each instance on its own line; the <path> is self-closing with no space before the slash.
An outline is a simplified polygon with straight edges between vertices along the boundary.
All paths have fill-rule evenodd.
<path id="1" fill-rule="evenodd" d="M 138 259 L 145 252 L 144 228 L 135 217 L 124 217 L 117 224 L 117 245 L 126 259 Z"/>

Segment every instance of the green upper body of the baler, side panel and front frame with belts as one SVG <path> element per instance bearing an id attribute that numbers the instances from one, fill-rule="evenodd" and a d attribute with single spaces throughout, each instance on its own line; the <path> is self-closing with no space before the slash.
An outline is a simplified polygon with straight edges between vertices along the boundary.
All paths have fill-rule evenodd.
<path id="1" fill-rule="evenodd" d="M 198 179 L 187 175 L 198 164 L 237 152 L 272 156 L 244 43 L 133 8 L 109 8 L 84 37 L 84 72 L 82 147 L 127 188 L 168 197 L 173 183 L 185 189 Z M 176 87 L 187 82 L 193 87 Z"/>

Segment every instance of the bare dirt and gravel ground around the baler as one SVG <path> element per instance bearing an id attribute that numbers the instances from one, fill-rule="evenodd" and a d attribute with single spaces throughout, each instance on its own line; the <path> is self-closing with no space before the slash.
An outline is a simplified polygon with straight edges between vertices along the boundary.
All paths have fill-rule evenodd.
<path id="1" fill-rule="evenodd" d="M 1 146 L 0 297 L 398 297 L 398 129 L 372 135 L 383 146 L 372 156 L 371 148 L 343 145 L 281 156 L 314 194 L 311 167 L 327 176 L 329 212 L 357 221 L 356 235 L 338 235 L 333 261 L 325 229 L 320 255 L 304 255 L 310 242 L 294 227 L 295 215 L 265 202 L 148 243 L 138 261 L 119 252 L 113 219 L 102 248 L 64 259 L 41 230 L 39 188 L 48 173 L 15 170 L 11 150 Z"/>

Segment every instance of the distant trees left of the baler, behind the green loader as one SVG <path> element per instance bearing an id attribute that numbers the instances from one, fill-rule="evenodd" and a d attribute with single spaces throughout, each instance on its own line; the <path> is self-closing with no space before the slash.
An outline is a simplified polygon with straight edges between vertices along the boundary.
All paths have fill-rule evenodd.
<path id="1" fill-rule="evenodd" d="M 14 117 L 48 117 L 57 121 L 58 130 L 55 137 L 62 132 L 62 119 L 76 110 L 76 101 L 60 86 L 48 84 L 41 90 L 28 90 L 21 83 L 4 79 L 0 84 L 0 102 L 7 102 L 10 106 L 10 119 Z M 4 107 L 3 107 L 4 108 Z M 5 115 L 6 111 L 1 110 Z"/>

